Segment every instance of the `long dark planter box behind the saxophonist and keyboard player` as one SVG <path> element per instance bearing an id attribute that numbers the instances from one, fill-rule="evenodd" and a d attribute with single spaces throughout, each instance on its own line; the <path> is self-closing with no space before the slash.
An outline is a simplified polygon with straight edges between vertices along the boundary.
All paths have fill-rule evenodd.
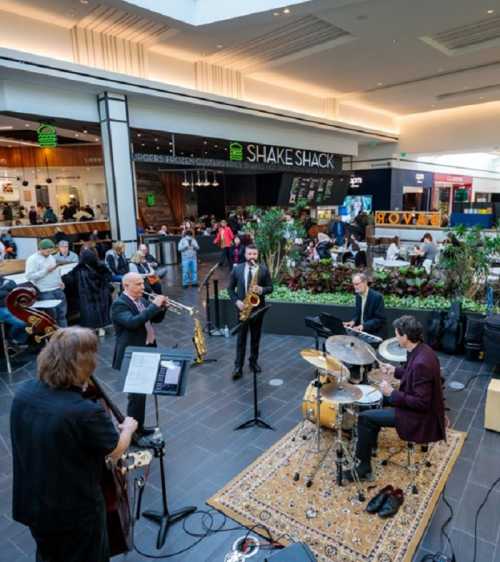
<path id="1" fill-rule="evenodd" d="M 321 312 L 327 312 L 337 316 L 341 320 L 351 320 L 354 314 L 354 306 L 340 306 L 333 304 L 302 304 L 302 303 L 285 303 L 285 302 L 269 302 L 271 308 L 267 311 L 264 318 L 263 331 L 271 334 L 282 334 L 287 336 L 312 336 L 313 331 L 305 325 L 304 318 L 306 316 L 319 316 Z M 220 325 L 223 328 L 226 324 L 232 327 L 236 324 L 236 308 L 229 300 L 220 300 Z M 213 300 L 212 320 L 213 314 Z M 393 337 L 392 322 L 403 316 L 411 314 L 422 323 L 424 330 L 432 311 L 429 310 L 405 310 L 403 308 L 386 308 L 387 317 L 387 337 Z"/>

